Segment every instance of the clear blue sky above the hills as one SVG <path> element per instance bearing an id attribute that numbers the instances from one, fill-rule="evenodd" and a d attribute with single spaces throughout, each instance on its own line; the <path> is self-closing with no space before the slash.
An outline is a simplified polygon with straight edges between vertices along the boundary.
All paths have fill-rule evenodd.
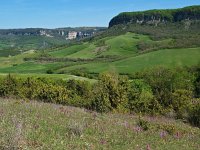
<path id="1" fill-rule="evenodd" d="M 189 5 L 200 0 L 1 0 L 0 28 L 108 26 L 120 12 Z"/>

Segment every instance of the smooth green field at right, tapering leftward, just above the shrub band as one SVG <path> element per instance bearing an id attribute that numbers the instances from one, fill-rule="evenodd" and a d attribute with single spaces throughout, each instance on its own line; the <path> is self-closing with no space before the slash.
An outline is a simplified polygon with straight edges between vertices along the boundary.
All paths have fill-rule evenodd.
<path id="1" fill-rule="evenodd" d="M 67 67 L 61 70 L 85 68 L 90 72 L 114 69 L 120 73 L 133 73 L 158 65 L 166 67 L 192 66 L 200 62 L 200 48 L 168 49 L 129 57 L 113 63 L 90 63 Z"/>

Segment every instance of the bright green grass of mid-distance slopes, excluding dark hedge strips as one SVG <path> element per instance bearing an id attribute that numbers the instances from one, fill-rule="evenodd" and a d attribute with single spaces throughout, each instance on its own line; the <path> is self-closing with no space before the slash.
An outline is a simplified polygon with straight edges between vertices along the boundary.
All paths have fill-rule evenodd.
<path id="1" fill-rule="evenodd" d="M 127 33 L 116 37 L 107 37 L 101 39 L 105 41 L 103 46 L 108 49 L 103 50 L 99 54 L 96 53 L 98 46 L 92 43 L 83 43 L 67 48 L 49 52 L 52 57 L 68 57 L 68 58 L 95 58 L 97 56 L 117 56 L 123 58 L 115 62 L 81 62 L 70 66 L 70 62 L 24 62 L 24 57 L 34 56 L 36 54 L 23 54 L 13 56 L 11 58 L 0 57 L 0 72 L 2 73 L 45 73 L 49 69 L 54 69 L 56 72 L 71 70 L 79 70 L 84 68 L 89 72 L 102 72 L 109 69 L 114 69 L 121 73 L 132 73 L 157 65 L 167 67 L 176 66 L 191 66 L 199 63 L 200 48 L 182 48 L 182 49 L 165 49 L 157 50 L 145 54 L 138 54 L 137 43 L 141 41 L 153 42 L 148 36 L 134 33 Z M 100 46 L 101 47 L 101 46 Z M 13 66 L 13 64 L 18 64 Z M 65 66 L 69 67 L 65 67 Z"/>

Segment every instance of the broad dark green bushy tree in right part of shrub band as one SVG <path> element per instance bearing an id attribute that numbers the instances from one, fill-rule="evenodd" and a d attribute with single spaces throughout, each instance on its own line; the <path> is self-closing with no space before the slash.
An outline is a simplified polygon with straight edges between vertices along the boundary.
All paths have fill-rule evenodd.
<path id="1" fill-rule="evenodd" d="M 163 111 L 165 111 L 164 109 L 168 110 L 171 108 L 175 98 L 175 95 L 173 95 L 175 91 L 194 90 L 194 76 L 186 69 L 176 68 L 176 70 L 173 70 L 157 67 L 142 72 L 141 76 L 150 85 L 153 95 L 162 106 Z"/>

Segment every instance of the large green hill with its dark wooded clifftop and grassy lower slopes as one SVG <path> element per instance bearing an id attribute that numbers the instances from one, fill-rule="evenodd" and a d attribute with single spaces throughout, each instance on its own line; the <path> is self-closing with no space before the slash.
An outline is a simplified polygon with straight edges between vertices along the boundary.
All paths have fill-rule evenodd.
<path id="1" fill-rule="evenodd" d="M 15 51 L 18 55 L 13 52 L 16 56 L 10 57 L 6 57 L 9 51 L 0 50 L 0 72 L 85 76 L 110 69 L 131 74 L 158 65 L 197 65 L 199 14 L 199 6 L 122 13 L 111 20 L 108 30 L 91 38 L 41 51 Z"/>

